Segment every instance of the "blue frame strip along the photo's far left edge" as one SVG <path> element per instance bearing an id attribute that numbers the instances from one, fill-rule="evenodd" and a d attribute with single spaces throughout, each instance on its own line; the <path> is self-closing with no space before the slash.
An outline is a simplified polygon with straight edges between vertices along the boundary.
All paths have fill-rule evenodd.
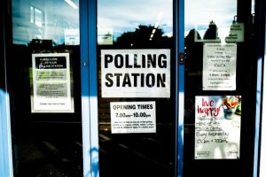
<path id="1" fill-rule="evenodd" d="M 12 134 L 11 134 L 11 112 L 9 103 L 9 93 L 6 78 L 6 1 L 1 1 L 0 14 L 0 176 L 12 177 Z"/>

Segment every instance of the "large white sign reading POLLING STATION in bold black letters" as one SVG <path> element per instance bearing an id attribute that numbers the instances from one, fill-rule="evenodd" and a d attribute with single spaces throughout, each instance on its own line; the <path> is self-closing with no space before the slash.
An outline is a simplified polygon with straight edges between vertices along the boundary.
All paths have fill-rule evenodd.
<path id="1" fill-rule="evenodd" d="M 102 97 L 170 97 L 170 50 L 101 50 Z"/>

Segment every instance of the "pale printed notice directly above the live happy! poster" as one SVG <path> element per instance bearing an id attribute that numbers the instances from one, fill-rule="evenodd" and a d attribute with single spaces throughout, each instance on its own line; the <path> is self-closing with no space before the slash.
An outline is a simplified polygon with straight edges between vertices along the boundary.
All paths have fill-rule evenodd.
<path id="1" fill-rule="evenodd" d="M 236 70 L 236 43 L 204 43 L 203 90 L 235 90 Z"/>

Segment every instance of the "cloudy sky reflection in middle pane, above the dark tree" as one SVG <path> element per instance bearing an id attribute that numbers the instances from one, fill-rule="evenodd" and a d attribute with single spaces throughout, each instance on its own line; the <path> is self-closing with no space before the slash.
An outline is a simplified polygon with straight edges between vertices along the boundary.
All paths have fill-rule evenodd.
<path id="1" fill-rule="evenodd" d="M 133 32 L 139 25 L 154 26 L 160 12 L 160 28 L 164 35 L 172 35 L 172 0 L 98 0 L 98 29 L 113 29 L 114 38 Z"/>

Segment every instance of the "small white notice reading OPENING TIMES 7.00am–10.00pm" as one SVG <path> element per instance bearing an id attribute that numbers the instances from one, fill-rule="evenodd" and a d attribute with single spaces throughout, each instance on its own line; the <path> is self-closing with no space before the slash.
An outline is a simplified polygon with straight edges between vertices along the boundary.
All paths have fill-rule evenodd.
<path id="1" fill-rule="evenodd" d="M 111 102 L 112 134 L 156 133 L 155 102 Z"/>

